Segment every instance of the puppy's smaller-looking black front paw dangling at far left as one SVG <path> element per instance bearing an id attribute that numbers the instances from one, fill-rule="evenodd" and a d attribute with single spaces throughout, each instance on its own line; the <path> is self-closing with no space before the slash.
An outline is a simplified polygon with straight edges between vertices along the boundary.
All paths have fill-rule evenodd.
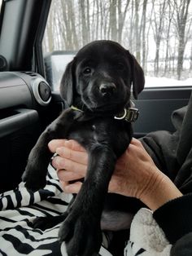
<path id="1" fill-rule="evenodd" d="M 25 182 L 25 186 L 32 191 L 37 191 L 46 186 L 46 174 L 39 165 L 28 163 L 22 175 L 22 180 Z"/>

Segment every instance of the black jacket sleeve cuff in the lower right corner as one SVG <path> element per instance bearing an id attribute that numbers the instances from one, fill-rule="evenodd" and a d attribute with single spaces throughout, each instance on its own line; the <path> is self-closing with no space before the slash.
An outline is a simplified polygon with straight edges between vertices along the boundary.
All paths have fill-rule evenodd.
<path id="1" fill-rule="evenodd" d="M 163 229 L 168 241 L 173 245 L 171 255 L 191 256 L 192 193 L 168 201 L 155 210 L 153 216 L 159 227 Z"/>

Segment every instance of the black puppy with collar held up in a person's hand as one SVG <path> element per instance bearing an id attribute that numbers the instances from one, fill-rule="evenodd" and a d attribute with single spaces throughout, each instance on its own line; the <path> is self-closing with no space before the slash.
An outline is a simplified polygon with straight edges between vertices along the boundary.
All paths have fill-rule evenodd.
<path id="1" fill-rule="evenodd" d="M 68 108 L 46 128 L 28 157 L 23 180 L 27 188 L 37 190 L 46 185 L 51 139 L 75 139 L 89 154 L 81 191 L 61 216 L 59 241 L 66 242 L 70 256 L 96 255 L 100 249 L 108 183 L 132 139 L 130 122 L 137 115 L 130 108 L 132 84 L 137 99 L 144 75 L 129 51 L 111 41 L 84 46 L 68 64 L 60 87 L 63 99 L 76 108 Z"/>

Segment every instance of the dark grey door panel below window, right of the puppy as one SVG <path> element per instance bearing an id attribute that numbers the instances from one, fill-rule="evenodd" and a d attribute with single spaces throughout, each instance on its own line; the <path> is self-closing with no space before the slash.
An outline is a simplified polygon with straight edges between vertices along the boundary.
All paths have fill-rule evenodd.
<path id="1" fill-rule="evenodd" d="M 134 123 L 134 136 L 141 137 L 155 130 L 174 131 L 171 115 L 174 110 L 188 104 L 191 88 L 146 88 L 137 100 L 139 117 Z"/>

